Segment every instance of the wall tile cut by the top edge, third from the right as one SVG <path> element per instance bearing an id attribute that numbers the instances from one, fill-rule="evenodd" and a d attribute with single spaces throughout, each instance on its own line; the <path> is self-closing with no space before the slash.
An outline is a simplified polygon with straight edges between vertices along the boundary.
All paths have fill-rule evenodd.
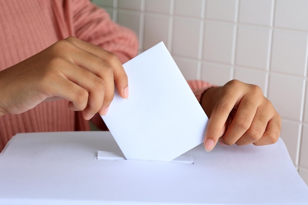
<path id="1" fill-rule="evenodd" d="M 236 20 L 236 0 L 206 0 L 205 17 L 222 21 Z"/>

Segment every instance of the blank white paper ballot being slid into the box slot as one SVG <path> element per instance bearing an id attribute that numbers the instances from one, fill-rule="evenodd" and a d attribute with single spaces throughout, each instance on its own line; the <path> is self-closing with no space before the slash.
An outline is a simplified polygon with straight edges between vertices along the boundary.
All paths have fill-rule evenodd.
<path id="1" fill-rule="evenodd" d="M 203 142 L 208 117 L 163 42 L 123 67 L 129 98 L 116 92 L 102 118 L 126 159 L 170 161 Z"/>

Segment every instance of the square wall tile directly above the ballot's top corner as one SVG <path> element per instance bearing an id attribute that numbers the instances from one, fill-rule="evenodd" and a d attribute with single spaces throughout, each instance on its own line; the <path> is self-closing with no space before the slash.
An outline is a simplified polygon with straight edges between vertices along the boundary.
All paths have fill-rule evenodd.
<path id="1" fill-rule="evenodd" d="M 168 46 L 169 25 L 169 16 L 146 14 L 143 49 L 147 50 L 160 41 L 163 41 L 164 44 Z"/>

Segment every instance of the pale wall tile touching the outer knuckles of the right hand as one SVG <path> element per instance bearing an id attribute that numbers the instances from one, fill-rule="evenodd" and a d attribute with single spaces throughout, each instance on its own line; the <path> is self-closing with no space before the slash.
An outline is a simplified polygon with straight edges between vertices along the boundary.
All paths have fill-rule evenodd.
<path id="1" fill-rule="evenodd" d="M 281 117 L 300 120 L 305 80 L 283 74 L 270 74 L 268 98 Z"/>

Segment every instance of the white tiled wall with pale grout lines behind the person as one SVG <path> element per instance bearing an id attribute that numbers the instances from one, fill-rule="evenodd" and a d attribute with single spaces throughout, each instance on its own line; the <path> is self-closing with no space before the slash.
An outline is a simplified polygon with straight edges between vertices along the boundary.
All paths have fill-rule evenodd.
<path id="1" fill-rule="evenodd" d="M 308 183 L 308 0 L 93 0 L 134 30 L 140 52 L 164 41 L 185 78 L 260 86 Z"/>

